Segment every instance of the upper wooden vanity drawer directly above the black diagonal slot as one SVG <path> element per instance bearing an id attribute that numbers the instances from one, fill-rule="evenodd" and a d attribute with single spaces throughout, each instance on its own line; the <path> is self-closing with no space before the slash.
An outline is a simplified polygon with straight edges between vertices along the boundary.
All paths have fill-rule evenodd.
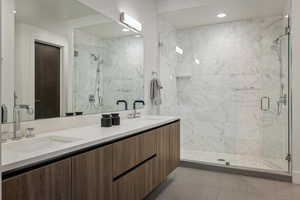
<path id="1" fill-rule="evenodd" d="M 149 131 L 113 144 L 114 177 L 156 154 L 156 131 Z"/>

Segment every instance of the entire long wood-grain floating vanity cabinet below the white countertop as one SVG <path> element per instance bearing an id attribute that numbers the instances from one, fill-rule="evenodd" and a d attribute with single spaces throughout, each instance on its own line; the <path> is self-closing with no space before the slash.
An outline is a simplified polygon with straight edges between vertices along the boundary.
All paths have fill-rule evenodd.
<path id="1" fill-rule="evenodd" d="M 5 179 L 3 200 L 142 200 L 180 162 L 180 122 Z"/>

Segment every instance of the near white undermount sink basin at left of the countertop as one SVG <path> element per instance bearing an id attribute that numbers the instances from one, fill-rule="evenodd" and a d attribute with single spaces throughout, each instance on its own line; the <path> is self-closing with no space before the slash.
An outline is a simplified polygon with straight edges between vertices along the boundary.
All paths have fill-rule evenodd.
<path id="1" fill-rule="evenodd" d="M 77 142 L 81 139 L 62 136 L 48 136 L 3 144 L 3 151 L 16 153 L 33 153 L 45 149 L 56 148 L 64 144 Z"/>

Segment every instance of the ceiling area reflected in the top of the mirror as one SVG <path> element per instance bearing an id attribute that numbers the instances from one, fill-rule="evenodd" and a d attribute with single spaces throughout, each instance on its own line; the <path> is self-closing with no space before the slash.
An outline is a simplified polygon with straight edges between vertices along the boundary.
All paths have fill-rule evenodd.
<path id="1" fill-rule="evenodd" d="M 63 26 L 78 28 L 99 38 L 136 35 L 77 0 L 15 0 L 16 20 L 55 32 Z"/>

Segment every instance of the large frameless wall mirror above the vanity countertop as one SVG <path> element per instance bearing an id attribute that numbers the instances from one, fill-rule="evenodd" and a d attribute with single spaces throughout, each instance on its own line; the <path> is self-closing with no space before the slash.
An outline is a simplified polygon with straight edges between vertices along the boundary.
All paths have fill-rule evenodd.
<path id="1" fill-rule="evenodd" d="M 12 24 L 2 29 L 2 123 L 13 121 L 17 105 L 33 108 L 22 112 L 28 121 L 124 110 L 118 100 L 132 109 L 143 100 L 141 33 L 77 0 L 9 1 L 2 14 Z"/>

